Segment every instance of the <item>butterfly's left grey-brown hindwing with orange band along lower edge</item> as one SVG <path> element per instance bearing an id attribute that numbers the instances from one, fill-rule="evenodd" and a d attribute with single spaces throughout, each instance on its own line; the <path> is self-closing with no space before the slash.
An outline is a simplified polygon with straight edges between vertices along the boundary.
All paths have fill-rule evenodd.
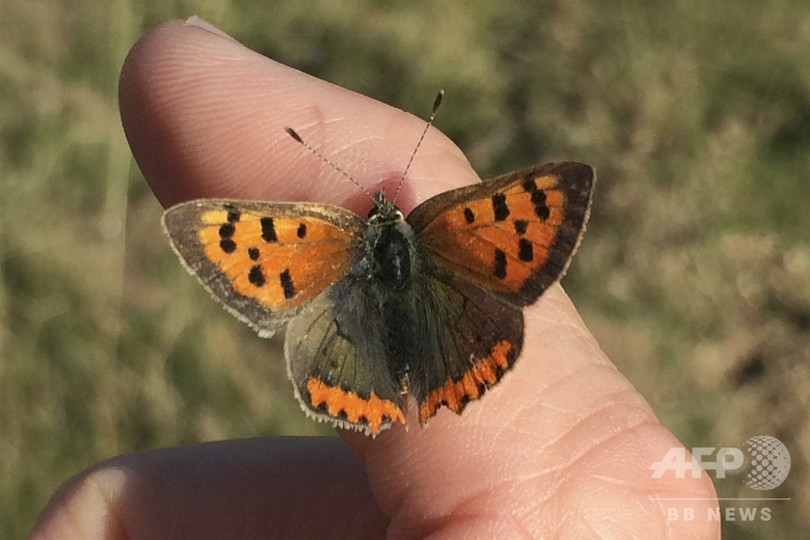
<path id="1" fill-rule="evenodd" d="M 304 411 L 376 434 L 405 422 L 402 382 L 386 359 L 388 329 L 364 276 L 347 274 L 290 321 L 287 369 Z"/>

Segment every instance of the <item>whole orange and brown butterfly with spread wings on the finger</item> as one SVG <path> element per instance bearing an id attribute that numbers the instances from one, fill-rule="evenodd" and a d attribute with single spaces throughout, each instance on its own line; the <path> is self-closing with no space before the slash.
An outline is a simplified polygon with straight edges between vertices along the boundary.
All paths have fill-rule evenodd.
<path id="1" fill-rule="evenodd" d="M 382 191 L 367 219 L 318 203 L 201 199 L 167 210 L 163 227 L 228 311 L 264 337 L 288 325 L 287 372 L 305 412 L 376 435 L 405 423 L 406 393 L 425 424 L 442 406 L 460 414 L 514 365 L 522 308 L 565 273 L 594 177 L 582 163 L 535 166 L 437 195 L 407 218 Z"/>

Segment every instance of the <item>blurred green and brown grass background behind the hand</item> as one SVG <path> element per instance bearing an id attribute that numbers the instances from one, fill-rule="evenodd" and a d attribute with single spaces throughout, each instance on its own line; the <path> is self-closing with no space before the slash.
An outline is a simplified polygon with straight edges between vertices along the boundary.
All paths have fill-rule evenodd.
<path id="1" fill-rule="evenodd" d="M 803 0 L 264 3 L 3 0 L 0 537 L 115 454 L 329 433 L 278 343 L 188 277 L 133 165 L 117 78 L 153 24 L 199 15 L 272 58 L 424 116 L 482 177 L 599 171 L 565 280 L 609 356 L 693 446 L 789 448 L 768 522 L 810 528 L 810 5 Z M 724 497 L 760 496 L 739 477 Z M 726 503 L 734 506 L 734 503 Z"/>

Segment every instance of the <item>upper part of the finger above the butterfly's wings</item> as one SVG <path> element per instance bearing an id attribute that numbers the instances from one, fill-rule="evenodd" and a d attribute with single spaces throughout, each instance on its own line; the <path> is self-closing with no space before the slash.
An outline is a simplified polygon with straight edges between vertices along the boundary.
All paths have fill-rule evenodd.
<path id="1" fill-rule="evenodd" d="M 212 28 L 201 20 L 158 25 L 122 69 L 124 130 L 164 205 L 197 197 L 341 204 L 357 194 L 287 127 L 370 190 L 401 177 L 424 120 L 279 64 Z M 408 177 L 406 211 L 477 180 L 463 153 L 435 129 Z"/>

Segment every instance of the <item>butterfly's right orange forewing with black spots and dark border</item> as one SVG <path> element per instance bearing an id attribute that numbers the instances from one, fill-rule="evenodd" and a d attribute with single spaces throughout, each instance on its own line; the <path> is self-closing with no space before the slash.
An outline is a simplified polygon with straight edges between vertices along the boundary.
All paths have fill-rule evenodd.
<path id="1" fill-rule="evenodd" d="M 593 182 L 588 165 L 549 163 L 437 195 L 408 223 L 436 263 L 525 306 L 565 273 Z"/>

